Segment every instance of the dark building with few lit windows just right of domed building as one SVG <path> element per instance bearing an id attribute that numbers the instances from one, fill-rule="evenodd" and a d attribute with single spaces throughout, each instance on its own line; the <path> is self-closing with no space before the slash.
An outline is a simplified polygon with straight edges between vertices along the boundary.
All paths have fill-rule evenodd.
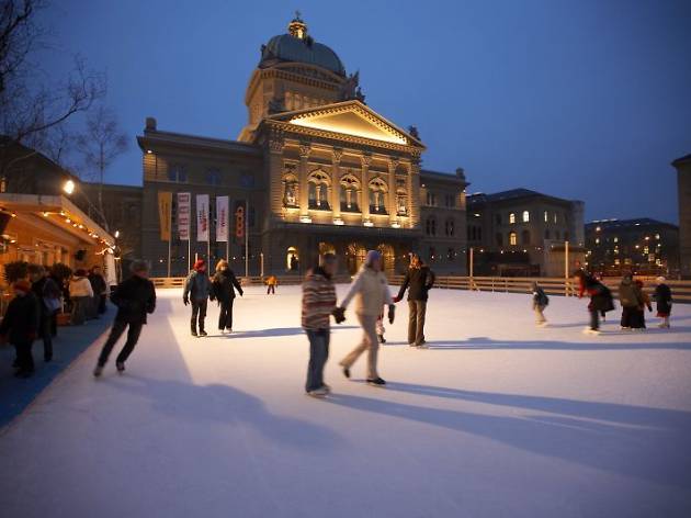
<path id="1" fill-rule="evenodd" d="M 585 259 L 584 202 L 528 189 L 467 196 L 476 275 L 563 277 Z"/>

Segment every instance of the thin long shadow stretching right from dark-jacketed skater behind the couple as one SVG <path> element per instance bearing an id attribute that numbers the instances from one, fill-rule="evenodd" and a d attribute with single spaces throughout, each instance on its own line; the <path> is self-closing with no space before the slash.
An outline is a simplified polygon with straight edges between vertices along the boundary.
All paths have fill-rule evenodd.
<path id="1" fill-rule="evenodd" d="M 687 333 L 686 328 L 676 328 L 679 333 Z M 690 329 L 691 330 L 691 329 Z M 646 333 L 659 334 L 669 333 L 667 329 L 650 329 Z M 568 341 L 548 341 L 548 340 L 498 340 L 488 337 L 469 337 L 465 340 L 432 340 L 427 342 L 427 348 L 430 350 L 495 350 L 495 349 L 514 349 L 514 350 L 554 350 L 554 351 L 625 351 L 625 350 L 647 350 L 647 349 L 691 349 L 691 341 L 671 341 L 671 342 L 625 342 L 613 344 L 607 340 L 609 336 L 633 336 L 643 337 L 644 333 L 632 334 L 626 333 L 611 333 L 594 337 L 592 341 L 584 342 L 568 342 Z"/>

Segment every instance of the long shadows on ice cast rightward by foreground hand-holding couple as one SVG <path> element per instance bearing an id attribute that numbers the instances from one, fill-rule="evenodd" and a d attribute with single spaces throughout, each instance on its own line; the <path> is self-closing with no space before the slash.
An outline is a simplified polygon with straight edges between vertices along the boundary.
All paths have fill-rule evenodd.
<path id="1" fill-rule="evenodd" d="M 387 390 L 511 407 L 510 415 L 414 405 L 374 397 L 335 394 L 332 404 L 394 419 L 484 437 L 539 455 L 597 470 L 688 487 L 691 470 L 691 413 L 542 396 L 492 394 L 390 383 Z M 449 406 L 449 405 L 446 405 Z M 363 417 L 364 418 L 364 417 Z M 424 435 L 423 430 L 415 433 Z M 458 448 L 462 448 L 462 436 Z M 452 441 L 449 441 L 451 444 Z"/>

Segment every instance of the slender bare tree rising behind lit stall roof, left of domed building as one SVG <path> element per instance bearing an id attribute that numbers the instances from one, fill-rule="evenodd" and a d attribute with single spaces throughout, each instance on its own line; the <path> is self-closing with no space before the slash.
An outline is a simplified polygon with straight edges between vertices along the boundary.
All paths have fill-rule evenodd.
<path id="1" fill-rule="evenodd" d="M 77 136 L 77 149 L 83 156 L 87 174 L 99 184 L 97 203 L 103 217 L 105 170 L 127 149 L 127 135 L 120 128 L 112 110 L 101 104 L 87 115 L 87 128 Z M 107 222 L 104 223 L 107 230 Z"/>

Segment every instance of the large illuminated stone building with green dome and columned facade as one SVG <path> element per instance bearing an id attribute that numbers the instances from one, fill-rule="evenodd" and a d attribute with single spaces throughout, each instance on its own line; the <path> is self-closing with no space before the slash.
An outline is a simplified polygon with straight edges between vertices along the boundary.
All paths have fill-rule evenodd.
<path id="1" fill-rule="evenodd" d="M 235 140 L 166 132 L 152 117 L 137 137 L 141 255 L 154 259 L 155 275 L 168 274 L 169 255 L 173 277 L 208 254 L 212 262 L 227 254 L 243 272 L 246 247 L 252 274 L 262 264 L 267 274 L 304 272 L 325 251 L 352 273 L 373 248 L 388 272 L 403 271 L 418 251 L 438 272 L 465 274 L 463 170 L 422 170 L 417 130 L 369 106 L 359 74 L 349 75 L 299 15 L 261 46 L 245 104 L 247 124 Z M 178 193 L 190 193 L 191 206 L 180 206 Z M 209 195 L 208 211 L 195 204 L 199 194 Z M 217 217 L 219 196 L 229 199 L 228 245 L 216 239 L 226 224 Z M 200 211 L 211 214 L 211 243 L 197 233 L 195 219 L 206 219 Z M 190 233 L 181 234 L 189 219 Z"/>

